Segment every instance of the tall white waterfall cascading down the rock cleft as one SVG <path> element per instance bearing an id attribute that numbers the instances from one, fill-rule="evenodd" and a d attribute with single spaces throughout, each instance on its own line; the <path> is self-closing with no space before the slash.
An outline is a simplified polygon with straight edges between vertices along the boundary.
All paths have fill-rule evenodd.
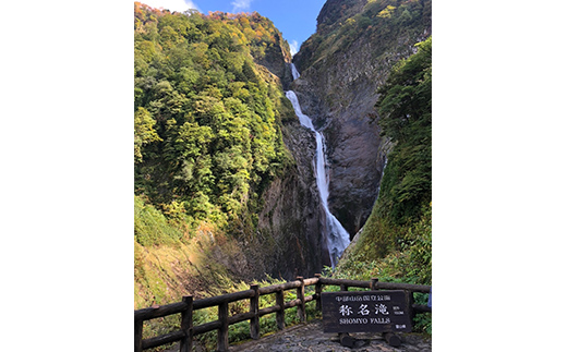
<path id="1" fill-rule="evenodd" d="M 293 80 L 299 77 L 299 72 L 295 69 L 295 65 L 291 63 L 291 72 L 293 75 Z M 314 158 L 315 163 L 315 180 L 317 181 L 317 189 L 321 197 L 321 203 L 325 210 L 325 236 L 327 238 L 327 246 L 329 250 L 330 264 L 333 268 L 337 265 L 342 252 L 350 243 L 350 235 L 345 230 L 339 220 L 329 211 L 328 207 L 328 197 L 329 197 L 329 186 L 328 179 L 326 172 L 327 158 L 325 156 L 325 138 L 323 134 L 315 130 L 313 126 L 313 122 L 311 118 L 304 114 L 301 111 L 301 107 L 299 105 L 298 96 L 293 90 L 286 92 L 286 97 L 291 101 L 293 106 L 293 110 L 299 118 L 300 123 L 310 129 L 315 133 L 315 141 L 317 143 L 317 150 Z"/>

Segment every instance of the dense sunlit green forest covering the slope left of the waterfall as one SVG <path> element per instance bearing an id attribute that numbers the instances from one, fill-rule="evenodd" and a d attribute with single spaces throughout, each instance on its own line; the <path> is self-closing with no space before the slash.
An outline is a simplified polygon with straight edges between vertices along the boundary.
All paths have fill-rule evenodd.
<path id="1" fill-rule="evenodd" d="M 281 35 L 257 14 L 138 3 L 134 29 L 136 195 L 188 224 L 189 236 L 203 221 L 254 226 L 258 193 L 291 161 L 281 89 L 253 62 L 279 49 Z"/>

